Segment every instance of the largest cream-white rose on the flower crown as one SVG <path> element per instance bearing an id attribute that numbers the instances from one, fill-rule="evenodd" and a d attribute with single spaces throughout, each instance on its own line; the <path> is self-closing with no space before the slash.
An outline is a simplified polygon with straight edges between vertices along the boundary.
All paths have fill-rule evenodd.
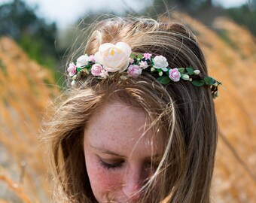
<path id="1" fill-rule="evenodd" d="M 131 47 L 125 42 L 105 43 L 99 46 L 94 59 L 108 72 L 123 72 L 129 65 L 131 52 Z"/>

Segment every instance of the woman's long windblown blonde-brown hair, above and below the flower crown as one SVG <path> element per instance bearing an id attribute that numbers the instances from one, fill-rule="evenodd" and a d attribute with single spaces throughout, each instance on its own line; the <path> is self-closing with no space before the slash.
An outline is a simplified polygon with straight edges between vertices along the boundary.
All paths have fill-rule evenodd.
<path id="1" fill-rule="evenodd" d="M 102 20 L 93 26 L 90 38 L 81 47 L 85 53 L 94 54 L 100 44 L 118 41 L 130 44 L 133 53 L 163 55 L 170 67 L 192 66 L 202 76 L 207 75 L 206 61 L 195 36 L 179 23 Z M 218 128 L 209 87 L 193 86 L 185 80 L 163 86 L 148 73 L 125 81 L 120 80 L 118 73 L 105 80 L 87 76 L 78 84 L 63 94 L 47 128 L 46 138 L 60 188 L 56 189 L 60 194 L 58 202 L 96 202 L 84 162 L 84 129 L 90 117 L 109 99 L 141 108 L 155 132 L 166 135 L 163 159 L 156 174 L 145 183 L 142 202 L 153 195 L 157 177 L 161 181 L 153 195 L 154 202 L 210 201 Z"/>

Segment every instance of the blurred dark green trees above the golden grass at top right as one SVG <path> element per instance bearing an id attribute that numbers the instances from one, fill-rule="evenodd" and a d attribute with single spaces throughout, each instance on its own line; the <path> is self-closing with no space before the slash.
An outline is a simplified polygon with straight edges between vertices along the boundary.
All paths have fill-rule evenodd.
<path id="1" fill-rule="evenodd" d="M 175 9 L 196 17 L 206 26 L 212 26 L 215 17 L 228 16 L 236 23 L 246 26 L 253 35 L 256 35 L 256 0 L 245 1 L 245 5 L 227 9 L 215 6 L 212 2 L 212 0 L 154 0 L 154 8 L 148 8 L 146 13 L 156 16 L 156 14 Z"/>

